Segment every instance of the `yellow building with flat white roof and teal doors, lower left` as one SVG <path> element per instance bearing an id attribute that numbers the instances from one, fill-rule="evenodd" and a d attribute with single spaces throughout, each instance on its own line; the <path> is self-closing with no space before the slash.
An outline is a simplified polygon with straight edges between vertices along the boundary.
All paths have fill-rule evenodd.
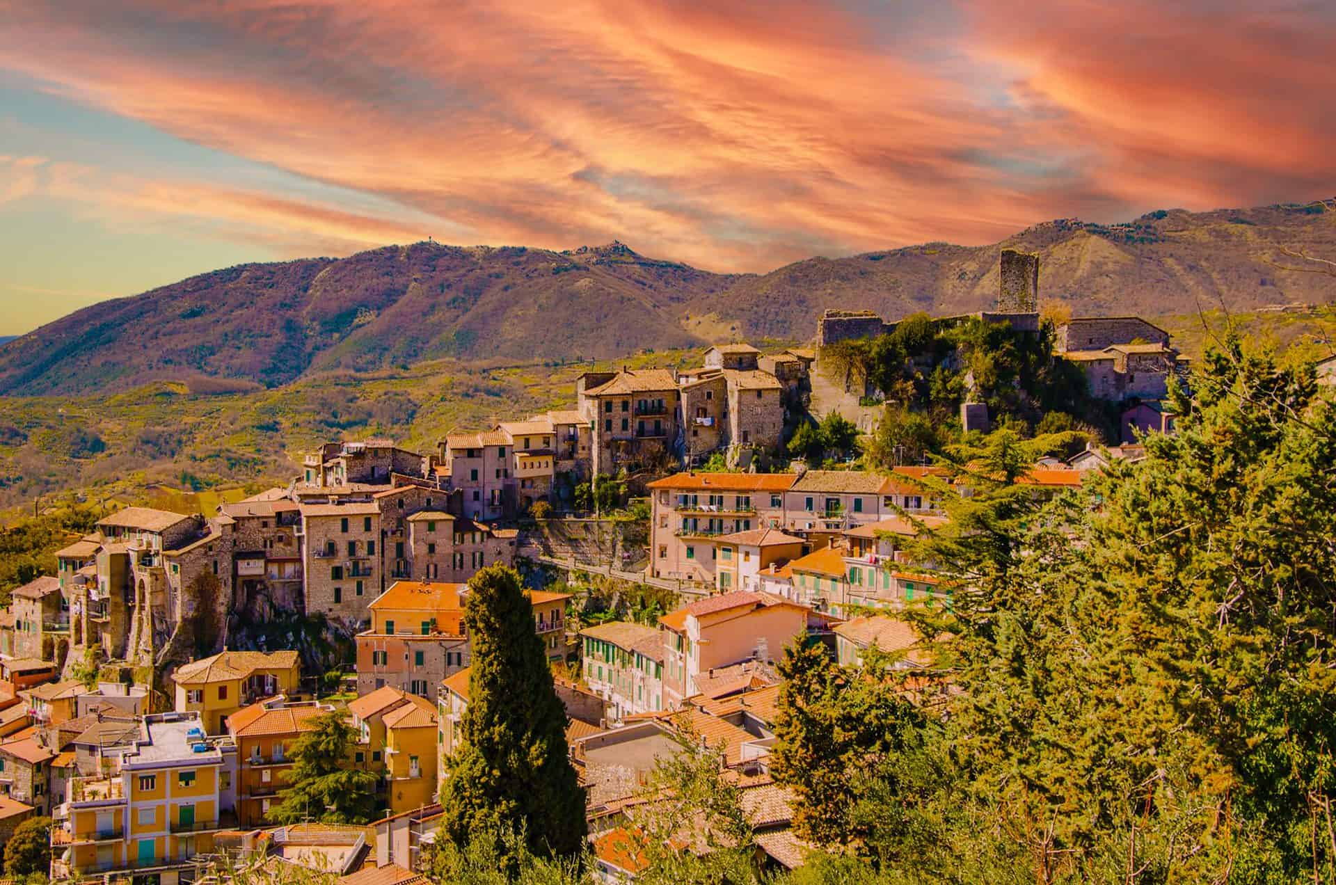
<path id="1" fill-rule="evenodd" d="M 204 741 L 198 715 L 150 715 L 140 729 L 110 773 L 71 781 L 51 836 L 53 878 L 124 872 L 175 885 L 192 872 L 190 858 L 235 825 L 219 793 L 223 753 Z"/>

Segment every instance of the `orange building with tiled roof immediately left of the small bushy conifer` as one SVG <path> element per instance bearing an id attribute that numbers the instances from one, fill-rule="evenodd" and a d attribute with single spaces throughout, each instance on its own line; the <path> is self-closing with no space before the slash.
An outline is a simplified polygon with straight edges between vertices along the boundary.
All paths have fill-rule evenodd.
<path id="1" fill-rule="evenodd" d="M 315 718 L 334 707 L 317 701 L 289 701 L 283 695 L 253 703 L 227 717 L 227 734 L 236 747 L 236 818 L 242 828 L 267 824 L 269 809 L 287 786 L 293 767 L 289 751 Z"/>

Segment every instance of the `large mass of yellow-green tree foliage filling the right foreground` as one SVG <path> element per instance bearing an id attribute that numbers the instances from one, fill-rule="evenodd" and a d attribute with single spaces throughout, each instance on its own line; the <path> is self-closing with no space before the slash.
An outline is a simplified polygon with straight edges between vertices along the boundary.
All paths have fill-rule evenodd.
<path id="1" fill-rule="evenodd" d="M 1236 341 L 1193 390 L 1177 436 L 1051 501 L 1014 430 L 951 452 L 974 493 L 915 551 L 967 578 L 915 674 L 945 715 L 812 811 L 860 824 L 880 880 L 1336 877 L 1336 414 Z"/>

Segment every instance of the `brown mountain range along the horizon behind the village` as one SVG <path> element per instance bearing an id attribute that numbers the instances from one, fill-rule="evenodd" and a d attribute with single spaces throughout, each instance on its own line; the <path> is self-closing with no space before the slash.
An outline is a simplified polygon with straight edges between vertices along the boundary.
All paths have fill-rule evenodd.
<path id="1" fill-rule="evenodd" d="M 1249 310 L 1336 299 L 1287 247 L 1336 255 L 1336 201 L 1058 219 L 987 246 L 927 243 L 716 274 L 628 246 L 386 246 L 239 265 L 77 310 L 0 345 L 0 394 L 116 392 L 200 377 L 302 377 L 469 362 L 609 358 L 739 338 L 803 341 L 826 307 L 887 318 L 987 307 L 998 251 L 1041 255 L 1041 302 L 1075 315 Z"/>

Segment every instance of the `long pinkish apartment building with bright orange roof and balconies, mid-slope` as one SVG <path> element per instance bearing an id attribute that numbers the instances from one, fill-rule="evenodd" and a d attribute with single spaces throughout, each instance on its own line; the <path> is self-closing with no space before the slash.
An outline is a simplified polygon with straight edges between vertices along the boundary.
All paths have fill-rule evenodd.
<path id="1" fill-rule="evenodd" d="M 715 539 L 784 523 L 792 473 L 676 473 L 648 484 L 651 574 L 716 583 Z"/>

